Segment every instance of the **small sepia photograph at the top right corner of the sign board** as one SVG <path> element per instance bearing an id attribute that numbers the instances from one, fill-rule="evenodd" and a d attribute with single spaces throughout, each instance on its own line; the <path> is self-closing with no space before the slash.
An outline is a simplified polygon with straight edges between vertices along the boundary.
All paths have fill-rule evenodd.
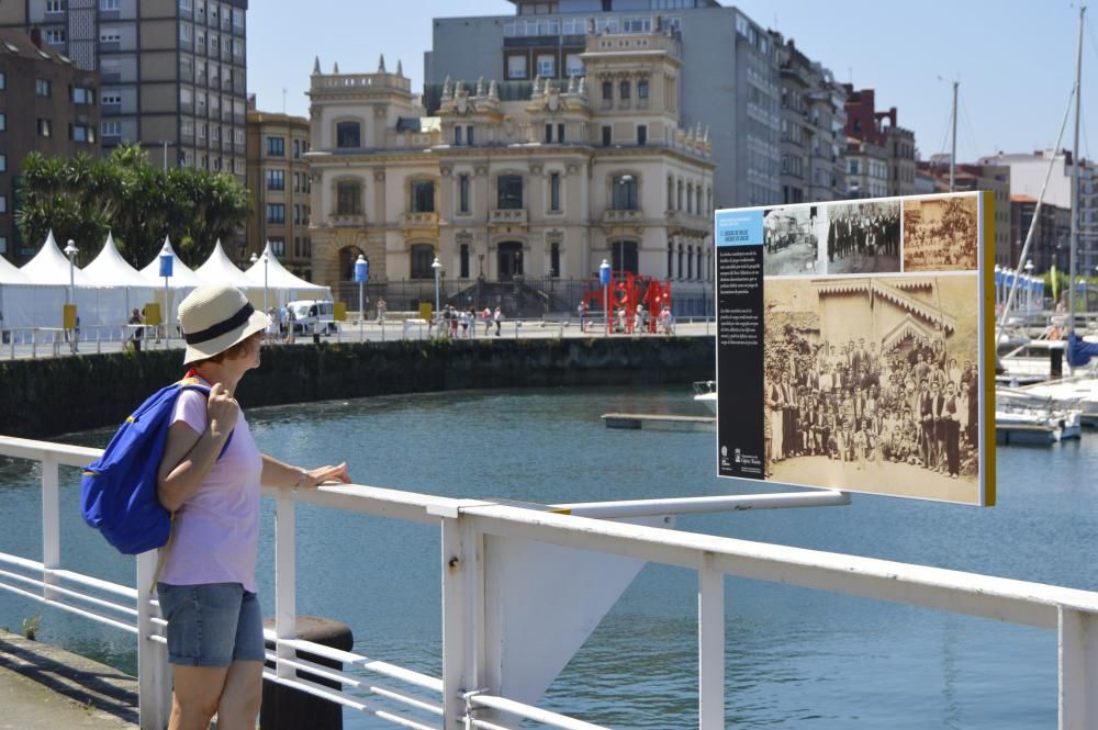
<path id="1" fill-rule="evenodd" d="M 904 271 L 979 268 L 977 198 L 973 194 L 904 201 Z"/>

